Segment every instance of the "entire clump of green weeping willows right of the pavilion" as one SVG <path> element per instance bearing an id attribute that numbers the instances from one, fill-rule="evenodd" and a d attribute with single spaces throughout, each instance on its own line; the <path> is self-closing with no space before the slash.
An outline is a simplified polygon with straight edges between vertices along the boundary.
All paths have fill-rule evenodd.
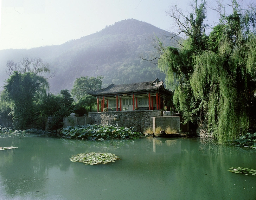
<path id="1" fill-rule="evenodd" d="M 204 121 L 220 143 L 247 133 L 248 101 L 256 88 L 255 10 L 243 10 L 236 1 L 232 8 L 206 36 L 205 2 L 197 7 L 196 1 L 195 19 L 181 15 L 187 23 L 181 30 L 188 36 L 185 43 L 164 49 L 159 59 L 169 83 L 178 81 L 173 85 L 175 105 L 188 120 Z M 181 23 L 177 16 L 171 17 Z"/>

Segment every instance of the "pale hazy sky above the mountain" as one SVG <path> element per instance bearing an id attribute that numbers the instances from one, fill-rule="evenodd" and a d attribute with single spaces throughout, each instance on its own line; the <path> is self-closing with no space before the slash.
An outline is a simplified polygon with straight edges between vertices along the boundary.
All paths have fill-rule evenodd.
<path id="1" fill-rule="evenodd" d="M 247 1 L 247 0 L 246 0 Z M 248 0 L 249 1 L 249 0 Z M 134 18 L 171 29 L 169 7 L 190 0 L 0 0 L 0 50 L 63 44 Z M 215 1 L 210 1 L 213 6 Z M 208 13 L 209 23 L 217 14 Z"/>

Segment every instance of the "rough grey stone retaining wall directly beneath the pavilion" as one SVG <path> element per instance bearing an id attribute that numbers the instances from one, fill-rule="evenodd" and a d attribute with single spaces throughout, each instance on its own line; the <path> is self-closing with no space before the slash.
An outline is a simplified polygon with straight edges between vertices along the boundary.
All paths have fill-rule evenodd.
<path id="1" fill-rule="evenodd" d="M 118 124 L 120 127 L 135 127 L 135 131 L 143 132 L 151 126 L 152 117 L 161 116 L 161 110 L 134 110 L 89 112 L 91 124 Z"/>

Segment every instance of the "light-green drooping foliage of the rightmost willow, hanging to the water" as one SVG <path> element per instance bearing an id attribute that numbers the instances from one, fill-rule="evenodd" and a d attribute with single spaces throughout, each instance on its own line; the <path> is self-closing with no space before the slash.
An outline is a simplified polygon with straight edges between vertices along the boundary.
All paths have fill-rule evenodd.
<path id="1" fill-rule="evenodd" d="M 194 94 L 208 102 L 206 120 L 219 142 L 247 133 L 249 125 L 248 86 L 255 77 L 256 38 L 243 34 L 242 13 L 239 12 L 241 10 L 235 7 L 233 14 L 225 17 L 228 22 L 218 25 L 210 34 L 212 51 L 195 58 L 191 78 Z"/>

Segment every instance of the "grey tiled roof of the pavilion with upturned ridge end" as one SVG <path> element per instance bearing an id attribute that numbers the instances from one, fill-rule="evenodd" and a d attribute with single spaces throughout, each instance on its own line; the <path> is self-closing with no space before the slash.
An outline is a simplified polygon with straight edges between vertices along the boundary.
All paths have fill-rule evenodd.
<path id="1" fill-rule="evenodd" d="M 87 91 L 89 95 L 99 96 L 99 95 L 111 95 L 111 94 L 123 94 L 132 92 L 150 92 L 155 91 L 160 88 L 164 89 L 163 82 L 155 79 L 154 81 L 142 82 L 142 83 L 131 83 L 124 85 L 111 84 L 107 88 L 97 90 L 97 91 Z M 165 90 L 165 89 L 164 89 Z"/>

